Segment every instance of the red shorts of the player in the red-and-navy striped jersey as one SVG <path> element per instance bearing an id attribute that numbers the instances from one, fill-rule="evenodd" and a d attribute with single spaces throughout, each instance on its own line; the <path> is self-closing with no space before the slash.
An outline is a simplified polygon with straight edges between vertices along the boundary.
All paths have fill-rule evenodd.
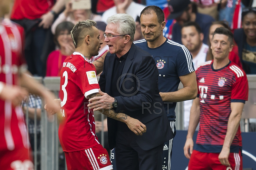
<path id="1" fill-rule="evenodd" d="M 241 151 L 239 153 L 230 153 L 228 162 L 230 166 L 225 166 L 220 163 L 220 153 L 205 153 L 193 150 L 189 163 L 188 170 L 243 170 L 243 161 Z"/>

